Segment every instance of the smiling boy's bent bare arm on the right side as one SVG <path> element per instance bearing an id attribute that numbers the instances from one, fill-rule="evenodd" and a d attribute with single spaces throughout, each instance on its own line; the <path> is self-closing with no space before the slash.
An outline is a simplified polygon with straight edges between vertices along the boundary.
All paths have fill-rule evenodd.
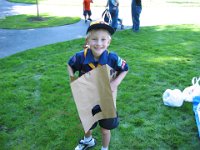
<path id="1" fill-rule="evenodd" d="M 111 90 L 116 91 L 128 71 L 122 71 L 113 81 L 110 82 Z"/>

